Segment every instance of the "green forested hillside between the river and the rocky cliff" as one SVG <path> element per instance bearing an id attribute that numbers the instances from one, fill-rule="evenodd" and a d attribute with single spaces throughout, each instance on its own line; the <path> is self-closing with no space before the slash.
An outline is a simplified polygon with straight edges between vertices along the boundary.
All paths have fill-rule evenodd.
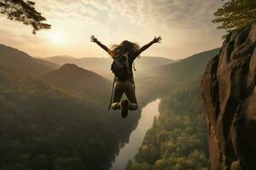
<path id="1" fill-rule="evenodd" d="M 137 155 L 128 161 L 125 170 L 210 169 L 200 77 L 219 50 L 164 65 L 154 81 L 151 79 L 150 89 L 153 94 L 160 94 L 160 116 L 154 118 Z"/>

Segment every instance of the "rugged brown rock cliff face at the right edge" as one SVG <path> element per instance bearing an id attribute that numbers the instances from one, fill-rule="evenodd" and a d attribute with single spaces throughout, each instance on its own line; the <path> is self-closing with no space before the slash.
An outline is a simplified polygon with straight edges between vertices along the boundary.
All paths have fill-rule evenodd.
<path id="1" fill-rule="evenodd" d="M 256 169 L 255 47 L 256 23 L 231 32 L 202 77 L 212 170 Z"/>

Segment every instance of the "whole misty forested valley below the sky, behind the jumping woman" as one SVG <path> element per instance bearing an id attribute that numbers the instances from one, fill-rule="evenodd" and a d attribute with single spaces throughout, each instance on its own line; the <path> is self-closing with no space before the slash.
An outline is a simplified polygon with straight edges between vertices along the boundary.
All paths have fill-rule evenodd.
<path id="1" fill-rule="evenodd" d="M 123 119 L 119 111 L 108 111 L 113 79 L 106 71 L 110 59 L 89 58 L 87 70 L 77 59 L 32 58 L 0 45 L 1 169 L 117 170 L 119 152 L 131 143 L 137 147 L 131 157 L 123 154 L 126 161 L 121 161 L 127 170 L 208 169 L 199 89 L 207 62 L 218 51 L 178 61 L 138 59 L 139 110 Z M 160 99 L 159 107 L 145 112 L 144 106 L 155 99 Z M 153 116 L 147 126 L 139 123 L 139 128 L 146 127 L 140 143 L 132 133 L 139 131 L 142 112 L 144 117 Z"/>

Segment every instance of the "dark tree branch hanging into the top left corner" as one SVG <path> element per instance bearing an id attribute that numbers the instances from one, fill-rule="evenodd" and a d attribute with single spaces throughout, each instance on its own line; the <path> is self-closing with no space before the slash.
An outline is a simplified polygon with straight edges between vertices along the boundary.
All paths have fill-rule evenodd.
<path id="1" fill-rule="evenodd" d="M 0 13 L 7 14 L 9 20 L 22 22 L 32 26 L 32 33 L 42 29 L 50 29 L 50 25 L 43 23 L 46 19 L 34 7 L 35 3 L 24 0 L 0 0 Z"/>

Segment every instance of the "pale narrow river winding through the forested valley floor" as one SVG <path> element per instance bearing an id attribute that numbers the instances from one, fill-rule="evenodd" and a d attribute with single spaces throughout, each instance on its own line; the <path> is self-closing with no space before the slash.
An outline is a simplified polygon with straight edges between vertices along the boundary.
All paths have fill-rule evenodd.
<path id="1" fill-rule="evenodd" d="M 160 99 L 149 103 L 142 110 L 136 129 L 131 133 L 129 143 L 119 150 L 119 155 L 115 157 L 111 170 L 123 170 L 129 160 L 133 160 L 139 147 L 143 144 L 143 139 L 148 129 L 152 127 L 154 116 L 159 116 L 158 106 Z"/>

